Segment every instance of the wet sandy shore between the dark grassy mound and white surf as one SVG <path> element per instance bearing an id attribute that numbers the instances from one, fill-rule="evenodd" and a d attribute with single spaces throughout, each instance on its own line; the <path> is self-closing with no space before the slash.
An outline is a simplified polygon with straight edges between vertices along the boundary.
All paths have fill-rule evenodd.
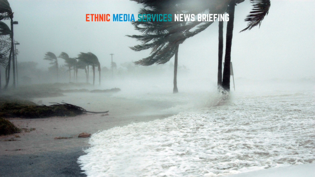
<path id="1" fill-rule="evenodd" d="M 63 100 L 78 106 L 89 108 L 98 107 L 97 103 L 88 99 L 75 97 L 46 98 L 45 102 L 61 102 Z M 105 96 L 104 96 L 105 95 Z M 115 126 L 127 125 L 131 122 L 146 122 L 172 116 L 177 112 L 158 112 L 160 108 L 174 106 L 173 103 L 159 101 L 144 101 L 124 98 L 115 98 L 103 95 L 101 107 L 98 109 L 109 110 L 109 115 L 85 114 L 77 117 L 51 117 L 40 119 L 10 119 L 20 128 L 36 128 L 30 132 L 19 133 L 19 138 L 14 135 L 1 137 L 0 140 L 14 138 L 16 141 L 0 142 L 0 176 L 85 176 L 80 174 L 77 158 L 83 155 L 83 149 L 89 147 L 88 138 L 77 138 L 82 132 L 95 133 Z M 94 94 L 95 96 L 95 94 Z M 89 97 L 90 98 L 90 97 Z M 68 99 L 68 100 L 67 100 Z M 87 101 L 86 101 L 87 100 Z M 37 101 L 37 100 L 34 100 Z M 88 104 L 88 105 L 85 105 Z M 85 106 L 84 106 L 85 105 Z M 148 110 L 152 112 L 148 113 Z M 153 113 L 154 112 L 154 113 Z M 54 139 L 54 137 L 73 137 L 70 139 Z"/>

